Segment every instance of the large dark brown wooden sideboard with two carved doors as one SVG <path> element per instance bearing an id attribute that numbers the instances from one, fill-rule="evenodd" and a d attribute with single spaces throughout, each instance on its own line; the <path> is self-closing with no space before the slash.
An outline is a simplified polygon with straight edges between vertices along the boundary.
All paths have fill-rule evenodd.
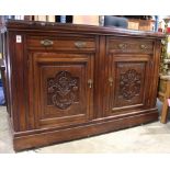
<path id="1" fill-rule="evenodd" d="M 16 151 L 158 120 L 163 34 L 12 20 L 1 33 Z"/>

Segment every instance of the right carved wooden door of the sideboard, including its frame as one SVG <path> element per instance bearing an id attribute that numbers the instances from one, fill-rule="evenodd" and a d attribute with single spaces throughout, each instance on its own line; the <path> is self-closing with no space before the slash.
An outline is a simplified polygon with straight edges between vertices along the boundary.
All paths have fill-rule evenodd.
<path id="1" fill-rule="evenodd" d="M 152 71 L 151 55 L 109 55 L 107 114 L 148 106 Z"/>

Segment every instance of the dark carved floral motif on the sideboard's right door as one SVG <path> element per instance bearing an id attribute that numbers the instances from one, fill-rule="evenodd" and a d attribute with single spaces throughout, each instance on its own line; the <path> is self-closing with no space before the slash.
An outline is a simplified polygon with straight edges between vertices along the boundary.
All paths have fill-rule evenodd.
<path id="1" fill-rule="evenodd" d="M 134 69 L 121 73 L 120 93 L 126 100 L 132 100 L 140 92 L 141 75 Z"/>

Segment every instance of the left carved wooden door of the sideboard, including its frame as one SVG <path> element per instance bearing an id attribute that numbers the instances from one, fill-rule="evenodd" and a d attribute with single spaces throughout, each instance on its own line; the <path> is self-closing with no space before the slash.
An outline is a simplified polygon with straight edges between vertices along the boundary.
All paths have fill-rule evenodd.
<path id="1" fill-rule="evenodd" d="M 91 118 L 92 70 L 90 54 L 30 54 L 30 107 L 37 128 L 68 126 Z"/>

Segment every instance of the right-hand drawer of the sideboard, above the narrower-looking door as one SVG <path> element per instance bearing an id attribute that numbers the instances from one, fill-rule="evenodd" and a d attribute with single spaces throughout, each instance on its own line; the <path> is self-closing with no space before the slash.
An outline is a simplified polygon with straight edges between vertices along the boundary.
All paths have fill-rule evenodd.
<path id="1" fill-rule="evenodd" d="M 109 50 L 111 53 L 139 53 L 151 54 L 154 53 L 154 42 L 143 39 L 109 39 Z"/>

